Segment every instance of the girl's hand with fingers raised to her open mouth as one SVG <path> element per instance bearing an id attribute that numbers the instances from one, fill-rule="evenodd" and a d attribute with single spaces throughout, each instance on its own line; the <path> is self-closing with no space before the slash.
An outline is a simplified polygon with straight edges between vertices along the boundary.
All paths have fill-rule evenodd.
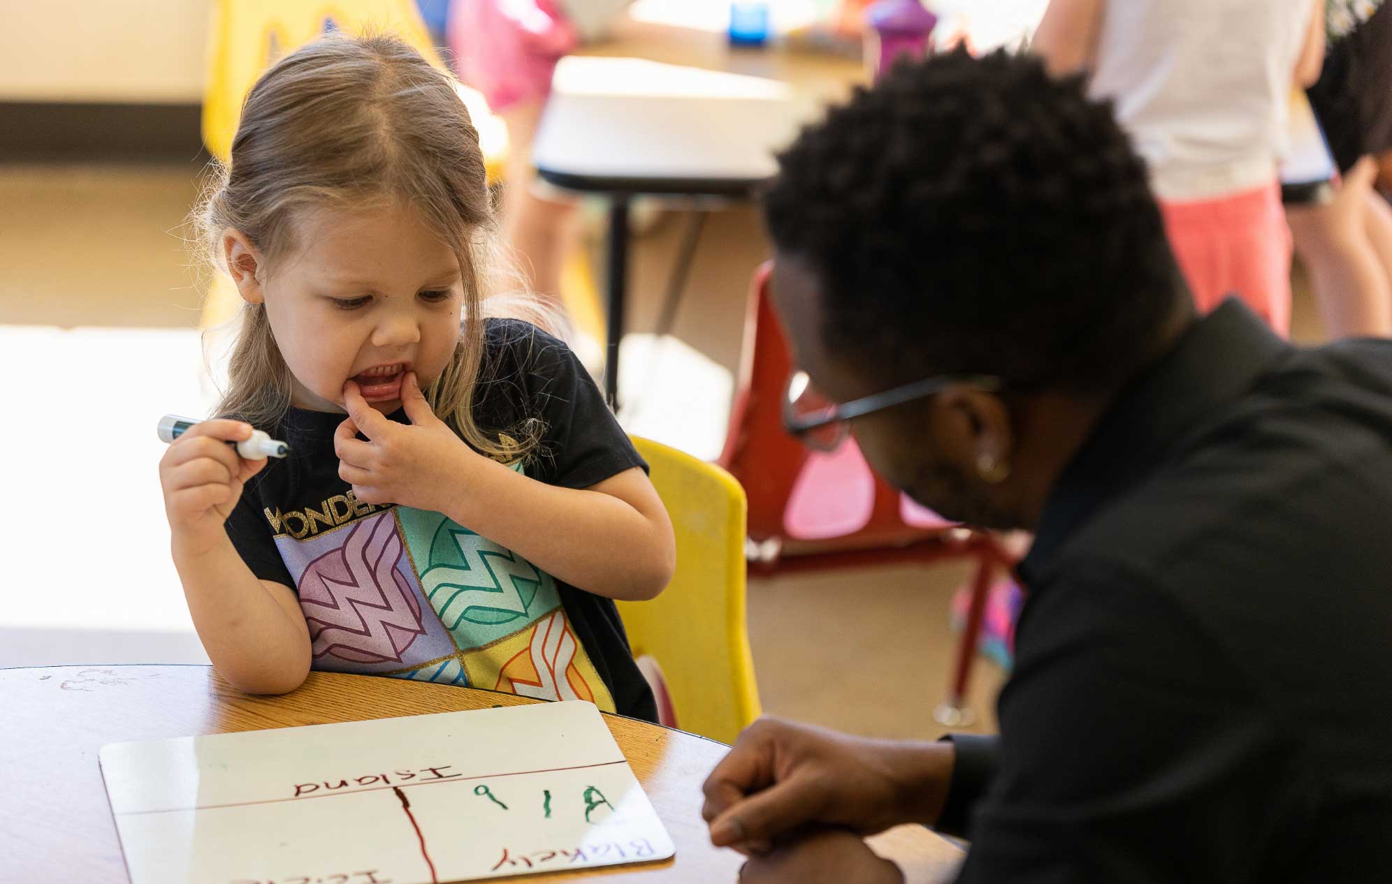
<path id="1" fill-rule="evenodd" d="M 476 460 L 487 460 L 434 416 L 413 371 L 401 379 L 401 404 L 411 424 L 388 420 L 367 404 L 354 381 L 344 385 L 344 404 L 348 418 L 334 432 L 338 475 L 363 503 L 441 511 L 447 489 L 455 486 L 441 480 L 465 477 Z"/>

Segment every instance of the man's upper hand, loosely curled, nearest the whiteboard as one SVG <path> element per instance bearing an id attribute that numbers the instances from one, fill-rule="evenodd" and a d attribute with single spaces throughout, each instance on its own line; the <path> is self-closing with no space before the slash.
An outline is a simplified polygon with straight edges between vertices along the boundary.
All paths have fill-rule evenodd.
<path id="1" fill-rule="evenodd" d="M 706 778 L 702 816 L 715 846 L 764 853 L 806 824 L 859 834 L 937 821 L 951 744 L 894 742 L 761 719 Z"/>

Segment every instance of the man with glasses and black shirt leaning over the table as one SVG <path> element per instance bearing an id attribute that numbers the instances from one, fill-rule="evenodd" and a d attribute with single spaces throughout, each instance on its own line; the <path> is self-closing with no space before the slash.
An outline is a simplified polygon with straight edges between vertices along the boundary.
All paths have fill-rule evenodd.
<path id="1" fill-rule="evenodd" d="M 903 821 L 972 884 L 1392 880 L 1392 345 L 1196 318 L 1111 108 L 1027 57 L 901 67 L 781 161 L 789 427 L 1036 542 L 999 739 L 756 724 L 706 784 L 743 881 L 899 881 L 859 834 Z"/>

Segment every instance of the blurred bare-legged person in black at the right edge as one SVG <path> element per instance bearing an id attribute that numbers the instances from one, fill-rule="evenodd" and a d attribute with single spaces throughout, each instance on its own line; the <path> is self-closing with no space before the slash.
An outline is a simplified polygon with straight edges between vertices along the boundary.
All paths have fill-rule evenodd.
<path id="1" fill-rule="evenodd" d="M 1329 53 L 1310 104 L 1339 167 L 1325 203 L 1288 206 L 1332 338 L 1392 335 L 1392 208 L 1375 192 L 1373 154 L 1392 149 L 1392 7 L 1327 0 Z"/>

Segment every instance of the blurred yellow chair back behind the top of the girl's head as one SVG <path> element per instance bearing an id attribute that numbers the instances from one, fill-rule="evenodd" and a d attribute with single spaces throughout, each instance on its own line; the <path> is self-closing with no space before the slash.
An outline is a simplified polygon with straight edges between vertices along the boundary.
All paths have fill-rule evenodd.
<path id="1" fill-rule="evenodd" d="M 216 0 L 207 32 L 207 85 L 203 92 L 203 143 L 227 161 L 242 113 L 242 99 L 277 58 L 320 36 L 363 28 L 395 33 L 434 64 L 415 0 Z"/>

